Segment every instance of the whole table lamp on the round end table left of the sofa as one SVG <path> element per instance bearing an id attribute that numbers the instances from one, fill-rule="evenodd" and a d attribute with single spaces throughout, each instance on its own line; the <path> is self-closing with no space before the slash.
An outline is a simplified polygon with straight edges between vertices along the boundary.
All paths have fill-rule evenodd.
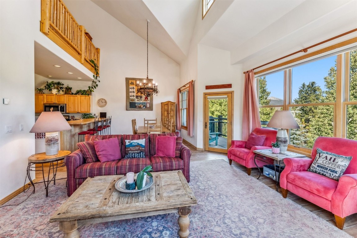
<path id="1" fill-rule="evenodd" d="M 42 112 L 32 126 L 31 133 L 46 133 L 45 151 L 46 155 L 58 154 L 58 132 L 70 130 L 71 126 L 63 117 L 61 112 Z"/>

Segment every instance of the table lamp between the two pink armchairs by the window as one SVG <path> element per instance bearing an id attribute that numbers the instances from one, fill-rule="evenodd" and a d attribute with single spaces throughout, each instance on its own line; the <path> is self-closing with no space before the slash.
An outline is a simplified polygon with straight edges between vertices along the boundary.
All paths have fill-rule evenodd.
<path id="1" fill-rule="evenodd" d="M 286 129 L 300 129 L 300 126 L 289 110 L 276 110 L 267 124 L 267 127 L 278 129 L 276 141 L 279 144 L 280 152 L 286 152 L 288 148 L 288 134 Z"/>

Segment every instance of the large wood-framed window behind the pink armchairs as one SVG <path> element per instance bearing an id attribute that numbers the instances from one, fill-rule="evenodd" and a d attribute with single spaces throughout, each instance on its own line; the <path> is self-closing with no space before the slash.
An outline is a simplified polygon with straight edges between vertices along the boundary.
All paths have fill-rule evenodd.
<path id="1" fill-rule="evenodd" d="M 261 120 L 291 110 L 300 125 L 290 130 L 291 149 L 311 149 L 318 136 L 357 140 L 357 50 L 256 79 Z"/>

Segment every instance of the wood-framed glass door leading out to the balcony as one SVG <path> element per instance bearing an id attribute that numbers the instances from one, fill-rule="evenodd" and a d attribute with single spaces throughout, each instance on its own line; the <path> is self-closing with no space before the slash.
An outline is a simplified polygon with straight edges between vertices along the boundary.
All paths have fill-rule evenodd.
<path id="1" fill-rule="evenodd" d="M 203 93 L 205 150 L 227 153 L 232 140 L 233 91 Z"/>

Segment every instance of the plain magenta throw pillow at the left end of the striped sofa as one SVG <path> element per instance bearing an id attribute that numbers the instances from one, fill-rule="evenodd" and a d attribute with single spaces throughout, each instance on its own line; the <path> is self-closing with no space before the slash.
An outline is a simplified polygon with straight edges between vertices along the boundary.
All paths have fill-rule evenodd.
<path id="1" fill-rule="evenodd" d="M 94 141 L 94 147 L 100 162 L 121 159 L 118 138 Z"/>

